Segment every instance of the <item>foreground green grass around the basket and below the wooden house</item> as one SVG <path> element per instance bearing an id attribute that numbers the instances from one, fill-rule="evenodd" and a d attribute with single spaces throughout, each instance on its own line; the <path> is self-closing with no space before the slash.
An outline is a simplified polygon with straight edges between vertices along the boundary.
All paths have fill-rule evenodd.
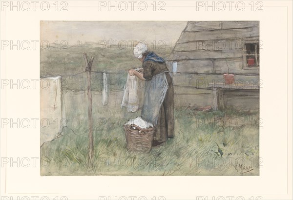
<path id="1" fill-rule="evenodd" d="M 41 175 L 259 175 L 259 129 L 256 121 L 252 123 L 257 113 L 176 109 L 175 138 L 153 147 L 148 154 L 136 155 L 126 151 L 121 121 L 127 116 L 121 117 L 120 110 L 111 110 L 108 116 L 101 112 L 100 116 L 94 113 L 94 169 L 87 166 L 86 119 L 70 120 L 76 118 L 71 111 L 63 136 L 41 148 L 41 157 L 50 160 L 44 162 Z M 110 121 L 99 123 L 97 117 L 102 115 Z"/>

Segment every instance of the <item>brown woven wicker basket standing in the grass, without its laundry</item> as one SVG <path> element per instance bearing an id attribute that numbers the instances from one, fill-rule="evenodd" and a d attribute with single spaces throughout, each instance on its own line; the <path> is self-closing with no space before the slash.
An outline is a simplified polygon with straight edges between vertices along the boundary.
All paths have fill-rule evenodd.
<path id="1" fill-rule="evenodd" d="M 127 151 L 148 153 L 151 150 L 154 137 L 154 127 L 142 129 L 135 124 L 124 125 Z"/>

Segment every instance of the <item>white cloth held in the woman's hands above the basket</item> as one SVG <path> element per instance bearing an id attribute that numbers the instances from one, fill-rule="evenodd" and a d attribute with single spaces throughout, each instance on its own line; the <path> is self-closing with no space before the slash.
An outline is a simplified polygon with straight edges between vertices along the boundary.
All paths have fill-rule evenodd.
<path id="1" fill-rule="evenodd" d="M 126 107 L 127 112 L 137 112 L 141 105 L 142 89 L 138 87 L 138 80 L 135 75 L 127 75 L 124 95 L 121 107 Z"/>

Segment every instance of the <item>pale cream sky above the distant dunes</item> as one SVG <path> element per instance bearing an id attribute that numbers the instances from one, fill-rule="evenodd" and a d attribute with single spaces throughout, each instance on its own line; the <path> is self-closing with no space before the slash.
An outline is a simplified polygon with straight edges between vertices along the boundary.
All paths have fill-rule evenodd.
<path id="1" fill-rule="evenodd" d="M 99 40 L 164 40 L 174 45 L 187 21 L 41 21 L 41 41 L 66 40 L 68 45 Z"/>

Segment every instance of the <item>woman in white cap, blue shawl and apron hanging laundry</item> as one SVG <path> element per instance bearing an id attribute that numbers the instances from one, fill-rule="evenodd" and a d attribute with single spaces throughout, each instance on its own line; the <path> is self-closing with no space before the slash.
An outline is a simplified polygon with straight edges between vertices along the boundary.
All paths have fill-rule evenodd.
<path id="1" fill-rule="evenodd" d="M 174 88 L 166 61 L 154 52 L 147 51 L 144 43 L 138 43 L 134 56 L 143 62 L 143 73 L 130 69 L 129 74 L 145 80 L 145 96 L 142 118 L 155 126 L 153 146 L 174 137 Z"/>

